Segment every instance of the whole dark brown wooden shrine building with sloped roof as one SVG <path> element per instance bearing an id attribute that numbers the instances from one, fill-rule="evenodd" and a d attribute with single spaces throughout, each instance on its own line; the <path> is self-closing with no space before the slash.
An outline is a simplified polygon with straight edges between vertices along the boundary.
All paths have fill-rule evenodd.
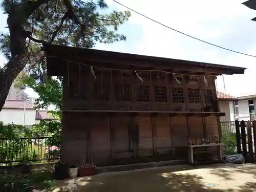
<path id="1" fill-rule="evenodd" d="M 63 77 L 61 160 L 96 165 L 187 158 L 187 138 L 221 138 L 215 79 L 245 68 L 44 44 Z"/>

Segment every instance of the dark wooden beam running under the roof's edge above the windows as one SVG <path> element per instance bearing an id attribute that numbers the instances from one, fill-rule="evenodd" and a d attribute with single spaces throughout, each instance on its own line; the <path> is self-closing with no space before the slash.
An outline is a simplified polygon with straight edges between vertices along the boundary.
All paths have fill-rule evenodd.
<path id="1" fill-rule="evenodd" d="M 54 68 L 57 70 L 55 72 L 60 72 L 62 69 L 62 65 L 56 64 L 61 62 L 62 56 L 59 56 L 60 58 L 50 59 L 48 60 L 49 63 L 49 69 L 51 69 L 51 74 L 54 73 Z M 73 62 L 73 65 L 78 63 L 84 63 L 85 65 L 92 65 L 96 67 L 103 67 L 106 68 L 106 66 L 109 66 L 111 69 L 118 69 L 118 70 L 131 70 L 133 68 L 134 70 L 162 70 L 162 71 L 168 71 L 170 73 L 185 73 L 185 74 L 196 74 L 198 72 L 205 73 L 208 75 L 209 73 L 214 73 L 216 75 L 219 74 L 233 74 L 233 73 L 240 73 L 237 71 L 233 71 L 230 69 L 225 69 L 221 67 L 213 67 L 213 66 L 200 66 L 196 63 L 190 63 L 189 61 L 172 61 L 172 62 L 160 62 L 160 61 L 154 61 L 154 60 L 122 60 L 122 59 L 102 59 L 102 58 L 87 58 L 84 55 L 82 56 L 71 56 L 67 55 L 65 58 L 63 58 L 63 61 L 70 60 L 70 62 Z M 243 73 L 241 71 L 241 73 Z"/>

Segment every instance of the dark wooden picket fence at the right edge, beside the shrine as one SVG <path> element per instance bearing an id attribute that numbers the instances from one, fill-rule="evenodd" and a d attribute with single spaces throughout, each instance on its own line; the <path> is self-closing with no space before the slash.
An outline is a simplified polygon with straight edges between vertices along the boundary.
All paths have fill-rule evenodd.
<path id="1" fill-rule="evenodd" d="M 256 162 L 255 149 L 256 121 L 235 121 L 237 136 L 237 151 L 242 154 L 248 163 Z"/>

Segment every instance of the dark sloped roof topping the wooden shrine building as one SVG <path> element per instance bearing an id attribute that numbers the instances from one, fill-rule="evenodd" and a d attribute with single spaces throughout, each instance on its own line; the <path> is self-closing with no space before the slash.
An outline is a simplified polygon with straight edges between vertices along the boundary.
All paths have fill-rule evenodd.
<path id="1" fill-rule="evenodd" d="M 118 70 L 162 70 L 172 72 L 174 69 L 180 70 L 183 74 L 189 72 L 190 75 L 221 75 L 221 74 L 244 74 L 246 68 L 217 65 L 212 63 L 181 60 L 174 58 L 163 58 L 130 53 L 120 53 L 103 51 L 96 49 L 84 49 L 53 44 L 42 44 L 42 51 L 47 57 L 47 73 L 49 76 L 63 76 L 67 69 L 67 61 L 72 65 L 79 63 L 92 65 L 95 67 L 105 67 L 105 64 L 115 65 Z M 99 59 L 100 58 L 100 59 Z M 194 70 L 193 70 L 194 69 Z M 192 73 L 193 72 L 193 73 Z"/>

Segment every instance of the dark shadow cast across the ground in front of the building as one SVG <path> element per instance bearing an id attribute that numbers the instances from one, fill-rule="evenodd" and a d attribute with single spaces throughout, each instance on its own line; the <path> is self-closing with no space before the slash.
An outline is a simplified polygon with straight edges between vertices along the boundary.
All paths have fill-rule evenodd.
<path id="1" fill-rule="evenodd" d="M 194 170 L 195 174 L 197 170 Z M 73 191 L 87 192 L 252 192 L 256 191 L 256 183 L 248 182 L 243 186 L 205 186 L 202 177 L 185 172 L 174 172 L 173 167 L 158 167 L 130 172 L 117 172 L 100 174 L 93 177 L 78 178 L 76 180 L 66 180 L 56 182 L 56 186 L 67 186 L 68 183 L 77 183 Z M 209 181 L 210 182 L 210 181 Z M 222 184 L 223 185 L 223 184 Z M 74 186 L 74 184 L 73 184 Z M 56 188 L 55 191 L 61 191 Z"/>

